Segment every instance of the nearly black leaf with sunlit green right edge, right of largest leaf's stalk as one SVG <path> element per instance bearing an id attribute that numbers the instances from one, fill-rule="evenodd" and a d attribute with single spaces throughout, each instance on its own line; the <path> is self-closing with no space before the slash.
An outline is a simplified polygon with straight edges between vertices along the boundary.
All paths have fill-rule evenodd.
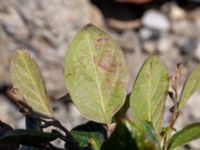
<path id="1" fill-rule="evenodd" d="M 122 120 L 101 150 L 144 150 L 144 134 L 130 121 Z"/>

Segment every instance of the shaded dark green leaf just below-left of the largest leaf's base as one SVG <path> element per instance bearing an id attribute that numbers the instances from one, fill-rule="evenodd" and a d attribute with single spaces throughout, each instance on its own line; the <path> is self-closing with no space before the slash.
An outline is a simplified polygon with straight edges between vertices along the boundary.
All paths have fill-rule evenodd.
<path id="1" fill-rule="evenodd" d="M 102 124 L 88 122 L 70 131 L 73 138 L 84 150 L 91 150 L 91 146 L 100 147 L 106 138 L 106 129 Z"/>

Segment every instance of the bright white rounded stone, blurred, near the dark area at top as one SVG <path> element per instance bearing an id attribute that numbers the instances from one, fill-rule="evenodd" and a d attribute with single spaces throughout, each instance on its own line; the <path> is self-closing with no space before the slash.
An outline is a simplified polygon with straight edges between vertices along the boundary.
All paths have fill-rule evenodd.
<path id="1" fill-rule="evenodd" d="M 170 29 L 168 18 L 156 10 L 146 11 L 142 17 L 142 23 L 148 28 L 159 31 L 168 31 Z"/>

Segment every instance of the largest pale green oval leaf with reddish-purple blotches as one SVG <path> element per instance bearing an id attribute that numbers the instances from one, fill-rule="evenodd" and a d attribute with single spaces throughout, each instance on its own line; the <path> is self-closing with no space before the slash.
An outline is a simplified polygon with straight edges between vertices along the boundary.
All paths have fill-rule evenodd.
<path id="1" fill-rule="evenodd" d="M 118 44 L 89 24 L 72 41 L 65 59 L 65 83 L 86 118 L 111 123 L 125 101 L 128 71 Z"/>

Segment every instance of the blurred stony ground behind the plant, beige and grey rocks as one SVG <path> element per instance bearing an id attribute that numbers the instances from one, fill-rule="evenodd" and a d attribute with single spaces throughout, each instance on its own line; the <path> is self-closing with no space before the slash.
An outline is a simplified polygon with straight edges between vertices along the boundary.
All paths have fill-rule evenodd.
<path id="1" fill-rule="evenodd" d="M 75 34 L 87 23 L 102 28 L 120 44 L 135 80 L 144 60 L 157 53 L 174 75 L 183 62 L 179 92 L 191 69 L 200 62 L 200 0 L 0 0 L 0 120 L 24 127 L 24 117 L 7 99 L 13 53 L 28 50 L 39 64 L 55 117 L 68 129 L 85 122 L 68 100 L 64 87 L 64 57 Z M 165 124 L 169 119 L 167 102 Z M 177 130 L 200 122 L 200 93 L 184 107 Z M 189 149 L 200 149 L 192 142 Z"/>

